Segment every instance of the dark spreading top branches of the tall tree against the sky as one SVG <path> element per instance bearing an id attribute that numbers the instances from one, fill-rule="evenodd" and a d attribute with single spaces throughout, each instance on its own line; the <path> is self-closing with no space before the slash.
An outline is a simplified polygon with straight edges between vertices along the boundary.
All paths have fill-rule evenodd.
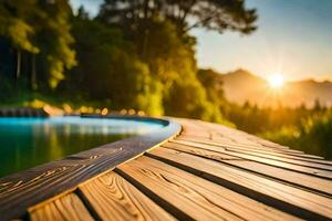
<path id="1" fill-rule="evenodd" d="M 100 18 L 135 29 L 141 20 L 160 18 L 173 22 L 180 32 L 205 28 L 251 33 L 256 30 L 256 10 L 243 0 L 105 0 Z"/>

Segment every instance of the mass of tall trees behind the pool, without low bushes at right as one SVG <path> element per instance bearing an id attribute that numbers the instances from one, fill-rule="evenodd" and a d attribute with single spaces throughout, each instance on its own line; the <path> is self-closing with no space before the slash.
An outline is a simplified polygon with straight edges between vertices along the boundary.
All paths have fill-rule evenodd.
<path id="1" fill-rule="evenodd" d="M 216 73 L 197 78 L 188 30 L 249 33 L 257 18 L 238 0 L 106 0 L 97 19 L 83 8 L 73 17 L 68 0 L 2 0 L 0 12 L 0 46 L 15 50 L 10 65 L 0 61 L 9 94 L 23 87 L 214 122 L 225 122 L 222 91 Z"/>

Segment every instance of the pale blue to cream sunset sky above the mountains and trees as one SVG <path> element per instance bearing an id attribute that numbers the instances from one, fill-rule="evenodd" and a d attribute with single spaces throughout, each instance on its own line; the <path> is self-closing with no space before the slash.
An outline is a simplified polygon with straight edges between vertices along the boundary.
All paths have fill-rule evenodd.
<path id="1" fill-rule="evenodd" d="M 71 0 L 95 15 L 102 0 Z M 332 80 L 332 0 L 246 0 L 256 8 L 258 30 L 250 35 L 194 30 L 199 67 L 221 73 L 246 69 L 288 81 Z"/>

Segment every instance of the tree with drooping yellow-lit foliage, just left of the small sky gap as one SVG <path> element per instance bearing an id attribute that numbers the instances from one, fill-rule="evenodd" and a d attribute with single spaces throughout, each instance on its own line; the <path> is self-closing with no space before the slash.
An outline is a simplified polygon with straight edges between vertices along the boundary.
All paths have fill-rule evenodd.
<path id="1" fill-rule="evenodd" d="M 54 88 L 64 78 L 64 71 L 76 65 L 75 52 L 71 46 L 74 43 L 70 32 L 72 10 L 66 0 L 38 0 L 38 7 L 40 13 L 33 18 L 34 41 L 41 53 L 37 57 L 40 65 L 35 69 L 40 75 L 39 82 L 48 82 Z"/>

